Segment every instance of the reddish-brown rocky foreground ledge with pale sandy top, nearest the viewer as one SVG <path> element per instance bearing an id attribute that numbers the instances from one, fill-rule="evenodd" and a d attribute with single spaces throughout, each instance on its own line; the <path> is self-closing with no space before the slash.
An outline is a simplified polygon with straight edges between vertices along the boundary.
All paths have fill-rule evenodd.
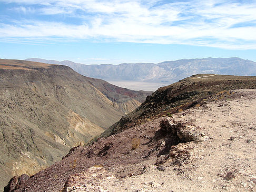
<path id="1" fill-rule="evenodd" d="M 73 148 L 5 191 L 256 191 L 256 90 L 223 91 Z"/>

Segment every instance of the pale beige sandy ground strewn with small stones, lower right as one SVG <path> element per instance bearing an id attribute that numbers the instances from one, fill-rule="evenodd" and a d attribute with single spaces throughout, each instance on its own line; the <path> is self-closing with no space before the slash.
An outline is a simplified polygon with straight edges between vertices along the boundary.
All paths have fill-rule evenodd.
<path id="1" fill-rule="evenodd" d="M 144 161 L 144 174 L 117 179 L 109 173 L 94 190 L 256 191 L 255 111 L 256 90 L 245 89 L 175 114 L 173 118 L 193 122 L 209 136 L 202 143 L 179 144 L 193 148 L 189 164 L 177 166 L 167 161 L 164 170 L 158 170 L 153 162 Z M 103 171 L 93 169 L 99 169 L 96 174 Z"/>

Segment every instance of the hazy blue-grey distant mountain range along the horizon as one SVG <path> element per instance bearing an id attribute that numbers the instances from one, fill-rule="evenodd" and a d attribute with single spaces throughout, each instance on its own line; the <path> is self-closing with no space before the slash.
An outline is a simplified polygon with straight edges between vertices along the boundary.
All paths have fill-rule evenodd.
<path id="1" fill-rule="evenodd" d="M 180 79 L 194 74 L 210 73 L 223 75 L 256 75 L 256 63 L 238 57 L 232 58 L 203 58 L 180 59 L 165 61 L 158 64 L 135 63 L 119 65 L 84 65 L 64 60 L 45 60 L 40 58 L 28 58 L 26 60 L 48 64 L 67 65 L 76 72 L 100 78 L 110 82 L 148 82 L 168 85 Z"/>

